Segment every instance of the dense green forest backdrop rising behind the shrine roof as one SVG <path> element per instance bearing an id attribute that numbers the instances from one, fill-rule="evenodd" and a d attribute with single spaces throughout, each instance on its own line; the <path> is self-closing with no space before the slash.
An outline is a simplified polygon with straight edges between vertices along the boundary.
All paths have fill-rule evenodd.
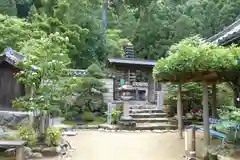
<path id="1" fill-rule="evenodd" d="M 239 0 L 110 0 L 105 36 L 101 4 L 99 0 L 2 0 L 0 13 L 23 17 L 32 5 L 26 18 L 35 30 L 47 34 L 57 31 L 69 37 L 73 68 L 87 68 L 93 62 L 103 63 L 107 56 L 121 56 L 122 41 L 134 45 L 137 57 L 157 60 L 181 39 L 196 34 L 208 38 L 240 15 Z M 22 34 L 27 28 L 1 36 L 17 37 L 6 44 L 18 50 L 16 40 L 29 39 L 30 32 Z"/>

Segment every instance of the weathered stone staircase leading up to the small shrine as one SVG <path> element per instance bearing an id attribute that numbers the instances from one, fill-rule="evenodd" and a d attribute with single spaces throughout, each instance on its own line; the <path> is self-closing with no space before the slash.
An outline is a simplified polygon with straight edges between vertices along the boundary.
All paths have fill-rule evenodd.
<path id="1" fill-rule="evenodd" d="M 130 116 L 136 122 L 136 130 L 167 130 L 176 129 L 176 124 L 155 105 L 131 106 Z"/>

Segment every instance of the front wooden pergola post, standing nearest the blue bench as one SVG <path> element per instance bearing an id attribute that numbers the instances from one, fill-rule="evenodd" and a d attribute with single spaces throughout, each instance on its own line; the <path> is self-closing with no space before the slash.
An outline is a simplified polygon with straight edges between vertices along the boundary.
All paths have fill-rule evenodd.
<path id="1" fill-rule="evenodd" d="M 206 82 L 203 82 L 203 125 L 204 125 L 203 127 L 204 128 L 204 148 L 206 149 L 210 144 L 208 86 Z M 204 154 L 207 154 L 207 150 L 206 152 L 204 152 Z"/>

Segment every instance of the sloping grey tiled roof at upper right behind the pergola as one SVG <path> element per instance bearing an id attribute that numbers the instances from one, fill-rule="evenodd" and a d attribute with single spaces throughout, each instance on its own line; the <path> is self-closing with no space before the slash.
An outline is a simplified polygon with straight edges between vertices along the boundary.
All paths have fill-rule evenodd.
<path id="1" fill-rule="evenodd" d="M 240 19 L 232 23 L 230 26 L 226 27 L 223 31 L 210 37 L 207 41 L 224 45 L 236 38 L 240 37 Z"/>

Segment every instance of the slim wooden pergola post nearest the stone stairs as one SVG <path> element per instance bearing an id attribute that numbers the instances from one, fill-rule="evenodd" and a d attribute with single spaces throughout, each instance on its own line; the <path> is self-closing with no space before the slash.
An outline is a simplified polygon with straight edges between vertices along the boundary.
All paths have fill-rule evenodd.
<path id="1" fill-rule="evenodd" d="M 178 93 L 177 93 L 177 117 L 178 117 L 178 131 L 179 138 L 183 138 L 183 108 L 182 108 L 182 85 L 178 85 Z"/>

